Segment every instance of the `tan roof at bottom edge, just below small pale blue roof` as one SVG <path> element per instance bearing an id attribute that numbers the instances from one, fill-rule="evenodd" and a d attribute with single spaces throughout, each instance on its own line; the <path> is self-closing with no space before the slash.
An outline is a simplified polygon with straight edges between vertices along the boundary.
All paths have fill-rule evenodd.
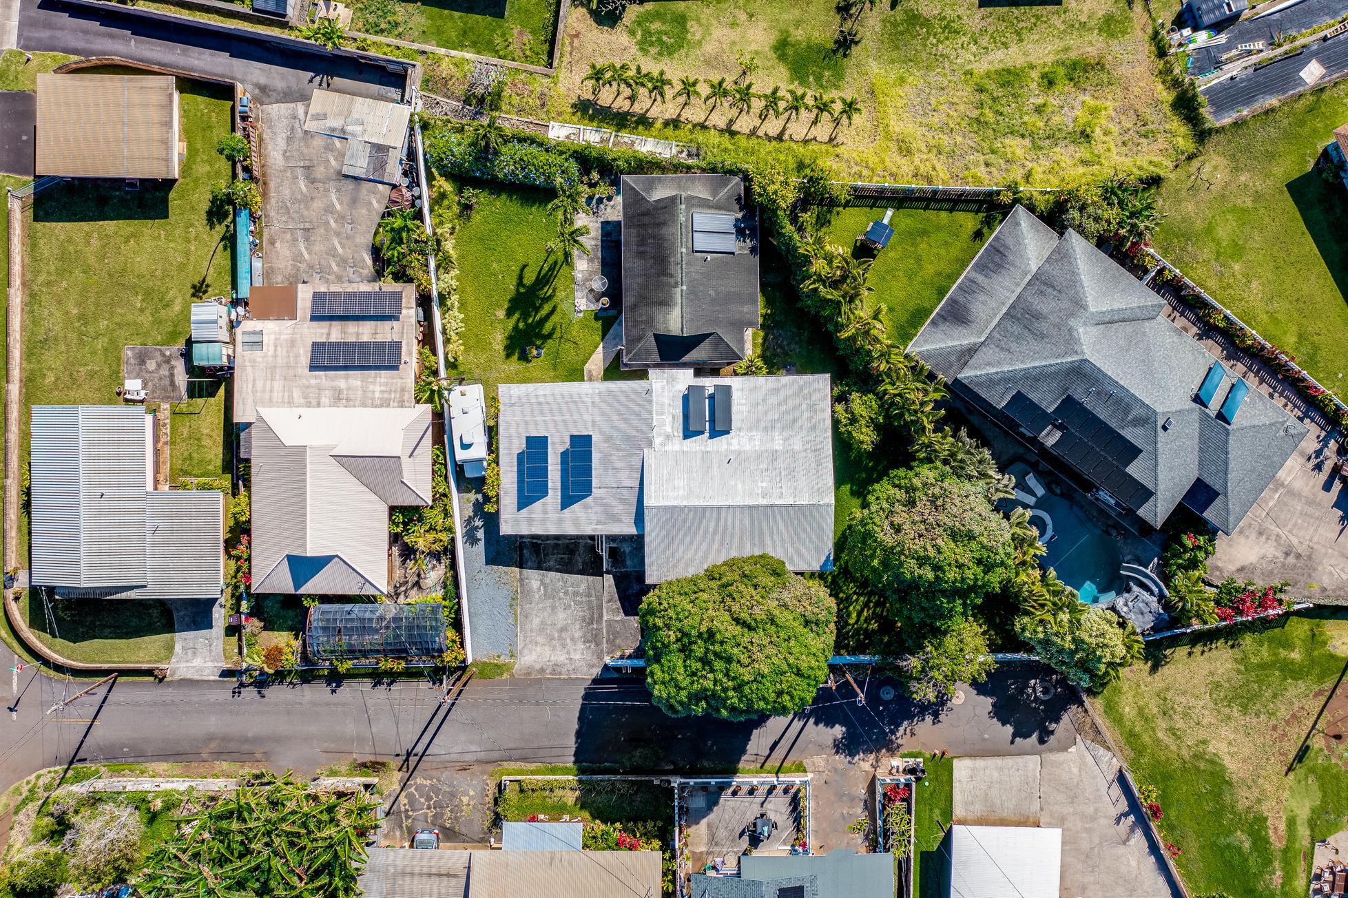
<path id="1" fill-rule="evenodd" d="M 644 898 L 661 894 L 658 851 L 477 851 L 468 898 Z"/>

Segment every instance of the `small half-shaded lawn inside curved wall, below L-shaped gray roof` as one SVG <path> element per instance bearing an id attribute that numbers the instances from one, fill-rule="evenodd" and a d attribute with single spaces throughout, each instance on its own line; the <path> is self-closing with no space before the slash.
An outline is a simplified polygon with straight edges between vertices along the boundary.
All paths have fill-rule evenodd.
<path id="1" fill-rule="evenodd" d="M 173 612 L 162 601 L 55 599 L 44 608 L 30 589 L 19 607 L 43 645 L 70 661 L 166 665 L 173 658 Z"/>

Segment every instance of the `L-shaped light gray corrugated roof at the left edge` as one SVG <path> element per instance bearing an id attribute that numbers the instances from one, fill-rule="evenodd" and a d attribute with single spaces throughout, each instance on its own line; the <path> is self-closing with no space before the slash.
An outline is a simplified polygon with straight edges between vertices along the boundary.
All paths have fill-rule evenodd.
<path id="1" fill-rule="evenodd" d="M 139 406 L 34 406 L 32 582 L 73 597 L 216 599 L 216 491 L 154 492 Z"/>

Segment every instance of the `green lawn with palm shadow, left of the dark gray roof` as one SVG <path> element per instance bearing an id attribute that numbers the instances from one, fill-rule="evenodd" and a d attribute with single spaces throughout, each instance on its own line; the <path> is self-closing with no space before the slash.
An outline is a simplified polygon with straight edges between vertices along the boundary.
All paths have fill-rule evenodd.
<path id="1" fill-rule="evenodd" d="M 464 355 L 453 373 L 480 379 L 488 391 L 500 383 L 584 380 L 600 322 L 594 313 L 576 317 L 572 267 L 545 258 L 557 231 L 546 210 L 551 193 L 473 186 L 477 205 L 454 236 Z M 530 347 L 543 357 L 528 360 Z"/>

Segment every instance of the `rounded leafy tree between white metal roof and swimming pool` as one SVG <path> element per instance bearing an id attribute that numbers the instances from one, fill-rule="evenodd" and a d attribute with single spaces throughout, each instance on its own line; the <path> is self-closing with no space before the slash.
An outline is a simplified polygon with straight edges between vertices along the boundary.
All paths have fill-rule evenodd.
<path id="1" fill-rule="evenodd" d="M 848 526 L 842 569 L 917 645 L 948 632 L 1014 573 L 1011 526 L 987 488 L 941 465 L 896 471 Z"/>

